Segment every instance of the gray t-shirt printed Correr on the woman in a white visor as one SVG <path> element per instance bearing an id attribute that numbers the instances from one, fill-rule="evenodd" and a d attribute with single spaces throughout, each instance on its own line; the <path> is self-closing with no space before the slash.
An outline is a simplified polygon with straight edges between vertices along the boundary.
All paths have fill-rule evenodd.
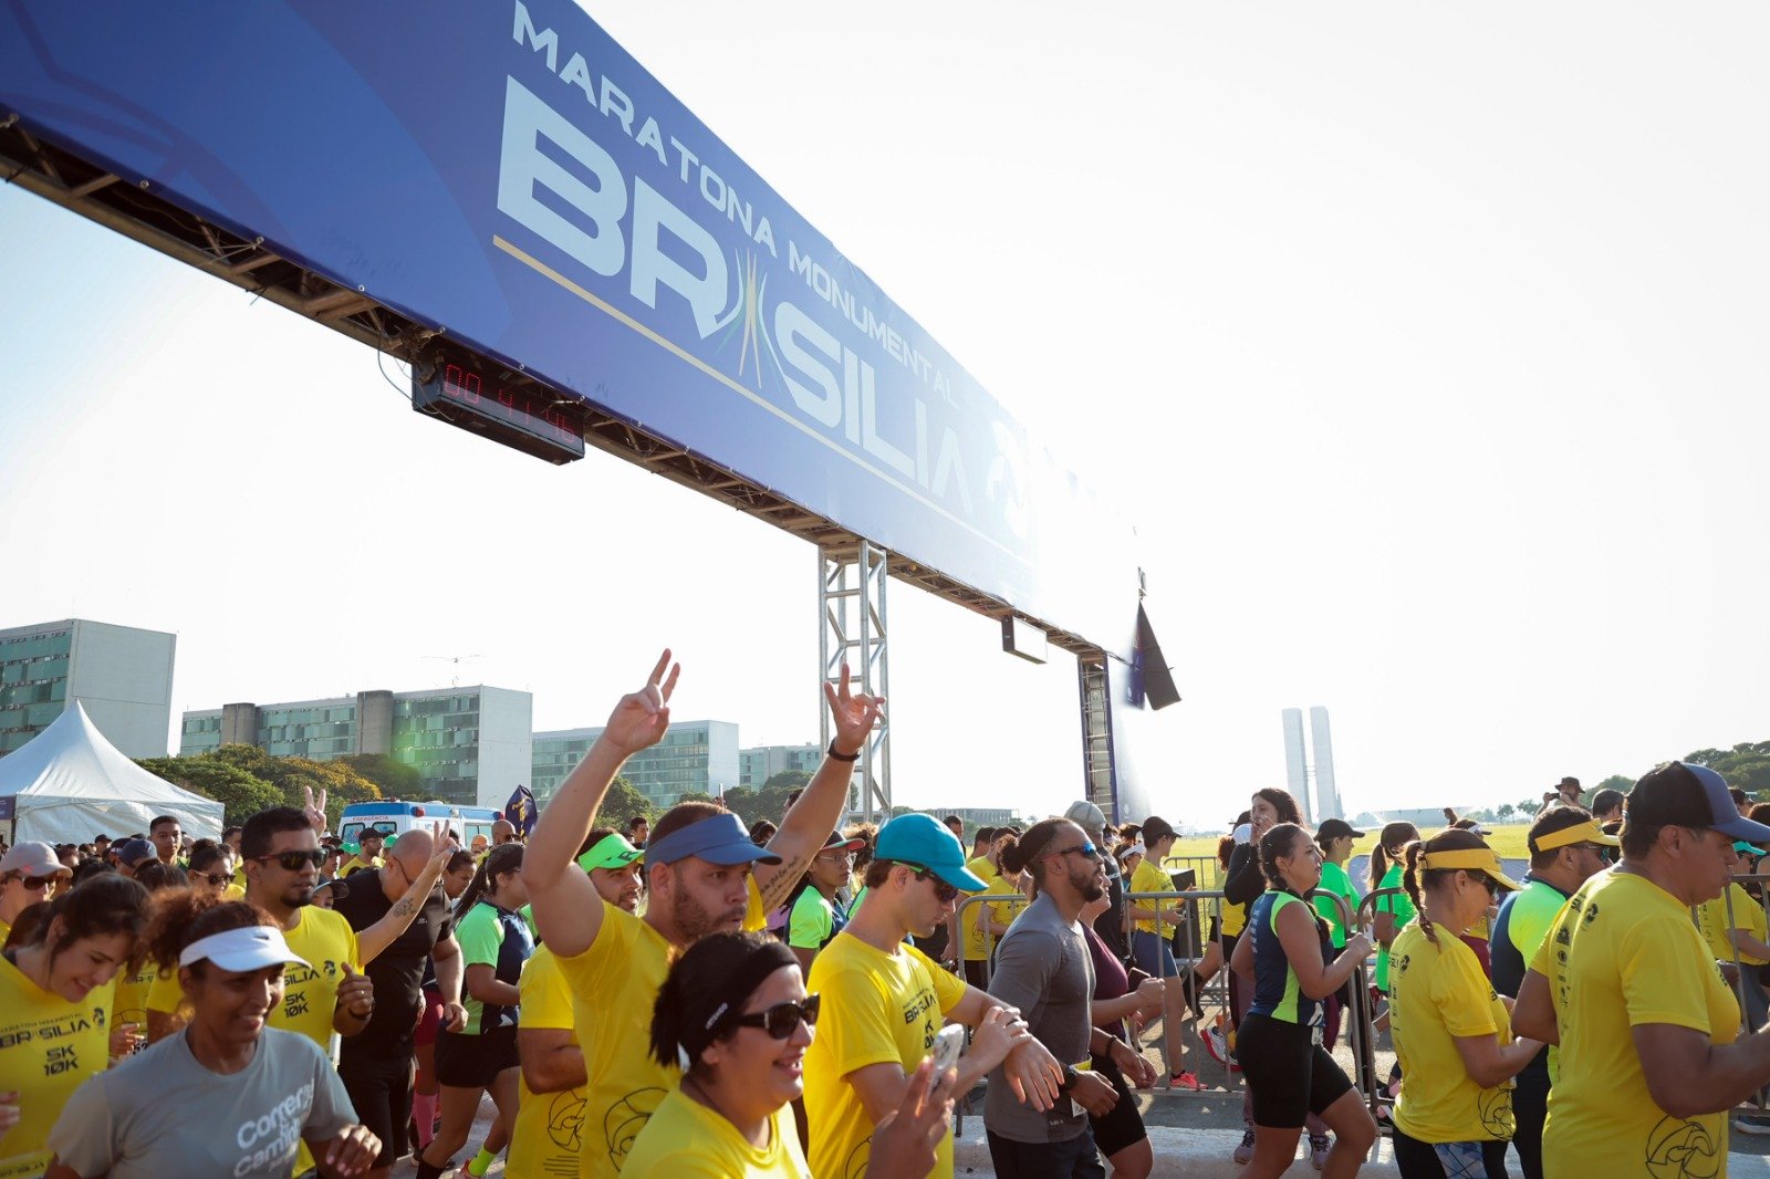
<path id="1" fill-rule="evenodd" d="M 354 1124 L 343 1082 L 306 1036 L 267 1027 L 239 1073 L 211 1073 L 186 1036 L 99 1073 L 67 1099 L 50 1149 L 81 1179 L 289 1179 L 301 1138 Z"/>

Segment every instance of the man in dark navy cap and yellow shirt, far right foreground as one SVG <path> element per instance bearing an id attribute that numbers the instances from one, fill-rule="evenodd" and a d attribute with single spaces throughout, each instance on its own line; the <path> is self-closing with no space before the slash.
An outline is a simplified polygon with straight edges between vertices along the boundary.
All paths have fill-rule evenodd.
<path id="1" fill-rule="evenodd" d="M 1770 1083 L 1770 1034 L 1740 1006 L 1690 922 L 1738 864 L 1728 782 L 1669 761 L 1635 782 L 1623 859 L 1575 892 L 1531 961 L 1512 1025 L 1559 1043 L 1545 1175 L 1726 1175 L 1726 1112 Z"/>

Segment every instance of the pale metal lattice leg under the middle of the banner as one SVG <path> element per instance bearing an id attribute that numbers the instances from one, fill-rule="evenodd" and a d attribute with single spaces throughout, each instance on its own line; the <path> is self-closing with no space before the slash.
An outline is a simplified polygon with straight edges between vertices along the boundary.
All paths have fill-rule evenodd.
<path id="1" fill-rule="evenodd" d="M 885 643 L 885 551 L 860 542 L 858 549 L 818 551 L 818 614 L 823 618 L 818 655 L 823 678 L 839 683 L 843 666 L 850 689 L 867 696 L 890 696 Z M 818 701 L 821 740 L 830 745 L 830 710 Z M 873 728 L 873 738 L 855 763 L 860 788 L 858 811 L 867 823 L 890 818 L 890 717 Z M 850 795 L 850 798 L 853 798 Z"/>

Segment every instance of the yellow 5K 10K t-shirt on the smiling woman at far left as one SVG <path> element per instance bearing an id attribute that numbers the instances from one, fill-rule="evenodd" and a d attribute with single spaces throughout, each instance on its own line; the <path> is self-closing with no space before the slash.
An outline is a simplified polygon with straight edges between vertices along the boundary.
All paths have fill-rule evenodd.
<path id="1" fill-rule="evenodd" d="M 0 1179 L 37 1179 L 62 1106 L 110 1064 L 112 984 L 71 1004 L 0 958 L 0 1092 L 18 1090 L 19 1122 L 0 1135 Z"/>

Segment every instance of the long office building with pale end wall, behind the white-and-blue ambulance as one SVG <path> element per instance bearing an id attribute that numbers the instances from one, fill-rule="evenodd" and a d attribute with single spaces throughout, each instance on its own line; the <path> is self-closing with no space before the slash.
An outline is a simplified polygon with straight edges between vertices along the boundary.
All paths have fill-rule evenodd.
<path id="1" fill-rule="evenodd" d="M 418 770 L 427 798 L 503 807 L 517 786 L 529 784 L 533 717 L 533 696 L 483 683 L 223 705 L 184 713 L 179 754 L 218 745 L 257 745 L 278 758 L 313 761 L 391 754 Z"/>

